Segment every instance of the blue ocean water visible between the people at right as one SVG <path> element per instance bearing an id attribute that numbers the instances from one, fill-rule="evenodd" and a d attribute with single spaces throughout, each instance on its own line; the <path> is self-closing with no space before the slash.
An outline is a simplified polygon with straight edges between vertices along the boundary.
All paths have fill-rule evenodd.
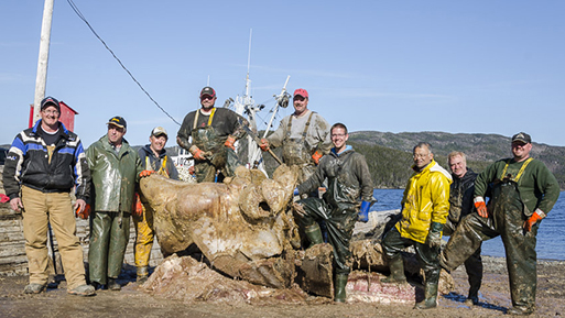
<path id="1" fill-rule="evenodd" d="M 374 189 L 378 202 L 371 211 L 400 209 L 403 189 Z M 565 193 L 561 193 L 557 202 L 542 221 L 537 231 L 535 250 L 539 260 L 565 260 Z M 504 245 L 500 237 L 482 243 L 482 254 L 504 256 Z"/>

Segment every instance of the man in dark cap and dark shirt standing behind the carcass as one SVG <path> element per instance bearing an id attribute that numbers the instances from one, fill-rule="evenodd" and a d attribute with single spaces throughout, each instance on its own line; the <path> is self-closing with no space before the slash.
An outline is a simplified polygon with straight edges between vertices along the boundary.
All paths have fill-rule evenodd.
<path id="1" fill-rule="evenodd" d="M 230 109 L 215 108 L 216 99 L 214 88 L 203 88 L 202 108 L 184 118 L 176 135 L 176 143 L 194 157 L 197 183 L 222 182 L 241 165 L 233 144 L 246 133 L 242 125 L 248 121 Z"/>

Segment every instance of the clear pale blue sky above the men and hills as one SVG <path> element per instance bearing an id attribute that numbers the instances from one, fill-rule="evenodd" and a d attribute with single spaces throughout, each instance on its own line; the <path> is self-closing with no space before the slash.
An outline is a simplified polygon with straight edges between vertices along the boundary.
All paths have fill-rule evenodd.
<path id="1" fill-rule="evenodd" d="M 245 94 L 265 108 L 290 77 L 308 108 L 349 131 L 524 131 L 565 146 L 565 1 L 73 0 L 151 97 L 177 122 L 213 86 L 221 107 Z M 0 144 L 28 128 L 43 1 L 0 1 Z M 251 36 L 250 36 L 251 34 Z M 251 44 L 250 44 L 251 39 Z M 249 68 L 248 68 L 248 61 Z M 75 109 L 85 147 L 113 116 L 126 139 L 178 124 L 112 57 L 67 0 L 55 0 L 46 96 Z M 291 114 L 292 106 L 281 109 Z"/>

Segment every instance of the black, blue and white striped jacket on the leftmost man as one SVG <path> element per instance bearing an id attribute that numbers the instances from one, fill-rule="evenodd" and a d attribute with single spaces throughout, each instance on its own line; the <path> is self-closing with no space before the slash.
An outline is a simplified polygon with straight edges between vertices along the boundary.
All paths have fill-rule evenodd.
<path id="1" fill-rule="evenodd" d="M 90 171 L 80 139 L 61 123 L 59 138 L 48 155 L 39 120 L 33 128 L 20 132 L 6 157 L 3 183 L 10 199 L 20 196 L 24 185 L 43 193 L 69 193 L 76 186 L 77 199 L 88 201 Z"/>

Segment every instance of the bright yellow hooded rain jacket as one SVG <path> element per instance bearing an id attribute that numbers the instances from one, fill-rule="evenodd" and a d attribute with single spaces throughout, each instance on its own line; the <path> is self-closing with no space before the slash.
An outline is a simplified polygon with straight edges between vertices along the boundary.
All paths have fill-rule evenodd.
<path id="1" fill-rule="evenodd" d="M 410 177 L 402 198 L 402 219 L 396 223 L 403 238 L 425 243 L 432 222 L 445 224 L 450 184 L 449 173 L 433 160 Z"/>

